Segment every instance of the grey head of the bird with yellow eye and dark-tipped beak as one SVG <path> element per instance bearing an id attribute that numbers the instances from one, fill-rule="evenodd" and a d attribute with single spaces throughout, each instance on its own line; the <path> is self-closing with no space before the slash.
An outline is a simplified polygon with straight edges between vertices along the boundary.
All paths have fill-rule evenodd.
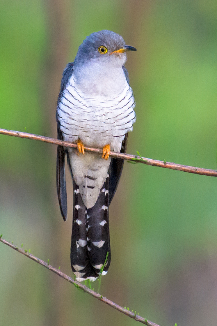
<path id="1" fill-rule="evenodd" d="M 136 51 L 125 44 L 122 36 L 108 30 L 90 34 L 79 46 L 75 57 L 75 66 L 102 62 L 109 66 L 122 67 L 127 59 L 126 51 Z"/>

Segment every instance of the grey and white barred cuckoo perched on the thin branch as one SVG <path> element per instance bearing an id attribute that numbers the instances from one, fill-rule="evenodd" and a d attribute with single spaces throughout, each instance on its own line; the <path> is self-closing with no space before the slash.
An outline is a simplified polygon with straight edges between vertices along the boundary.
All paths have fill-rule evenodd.
<path id="1" fill-rule="evenodd" d="M 58 146 L 57 194 L 67 218 L 65 157 L 71 172 L 73 226 L 71 267 L 79 282 L 105 275 L 111 261 L 108 208 L 124 160 L 110 151 L 126 153 L 128 132 L 136 120 L 135 100 L 125 67 L 126 52 L 136 51 L 109 30 L 94 32 L 79 46 L 65 67 L 57 101 L 58 139 L 77 148 Z M 102 155 L 84 147 L 102 149 Z"/>

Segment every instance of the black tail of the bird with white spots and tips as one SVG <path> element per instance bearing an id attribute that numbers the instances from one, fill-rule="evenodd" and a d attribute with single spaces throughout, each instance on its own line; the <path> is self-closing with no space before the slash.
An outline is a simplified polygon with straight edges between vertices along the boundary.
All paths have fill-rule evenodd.
<path id="1" fill-rule="evenodd" d="M 109 175 L 100 190 L 95 205 L 87 209 L 74 182 L 74 210 L 71 241 L 71 267 L 78 281 L 95 281 L 103 268 L 106 274 L 111 261 L 109 240 Z"/>

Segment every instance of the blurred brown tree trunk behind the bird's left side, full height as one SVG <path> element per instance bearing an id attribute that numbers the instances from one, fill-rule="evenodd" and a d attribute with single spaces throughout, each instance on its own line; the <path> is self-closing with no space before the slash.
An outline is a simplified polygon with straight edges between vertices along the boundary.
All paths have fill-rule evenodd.
<path id="1" fill-rule="evenodd" d="M 49 121 L 49 125 L 46 126 L 46 132 L 50 136 L 57 137 L 57 125 L 56 125 L 56 106 L 57 98 L 60 91 L 61 77 L 64 67 L 67 63 L 67 57 L 69 54 L 71 33 L 71 1 L 70 0 L 47 0 L 46 1 L 46 14 L 47 14 L 47 49 L 45 58 L 44 69 L 44 87 L 43 87 L 43 107 L 45 108 L 45 120 Z M 52 234 L 54 234 L 54 244 L 52 255 L 55 257 L 55 262 L 61 265 L 64 261 L 65 265 L 70 266 L 69 255 L 65 257 L 62 253 L 69 253 L 70 250 L 70 234 L 64 234 L 65 225 L 61 219 L 61 214 L 58 207 L 58 199 L 56 195 L 56 146 L 51 146 L 51 155 L 54 164 L 51 171 L 50 184 L 50 207 L 53 210 Z M 70 220 L 71 224 L 71 220 Z M 71 226 L 70 226 L 71 228 Z M 70 229 L 69 228 L 69 229 Z M 68 259 L 68 261 L 66 260 Z M 65 320 L 65 316 L 68 315 L 64 311 L 64 307 L 67 305 L 60 305 L 59 301 L 63 299 L 64 290 L 62 288 L 62 282 L 58 278 L 55 287 L 53 286 L 53 280 L 50 280 L 48 285 L 49 298 L 47 306 L 46 325 L 66 325 L 68 323 Z M 67 298 L 64 297 L 64 301 Z M 61 307 L 61 309 L 60 309 Z"/>

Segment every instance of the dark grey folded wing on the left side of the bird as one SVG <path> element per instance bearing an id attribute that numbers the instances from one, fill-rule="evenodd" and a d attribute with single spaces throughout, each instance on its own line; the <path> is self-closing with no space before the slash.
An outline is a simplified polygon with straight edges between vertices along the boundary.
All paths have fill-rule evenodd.
<path id="1" fill-rule="evenodd" d="M 62 92 L 64 91 L 69 78 L 73 73 L 73 62 L 68 63 L 62 74 L 61 89 L 58 96 L 57 105 L 59 104 Z M 57 115 L 56 115 L 57 119 Z M 57 138 L 62 139 L 62 132 L 60 130 L 59 121 L 57 119 Z M 62 146 L 57 147 L 57 195 L 60 204 L 60 211 L 64 221 L 67 219 L 67 194 L 65 181 L 65 149 Z"/>

